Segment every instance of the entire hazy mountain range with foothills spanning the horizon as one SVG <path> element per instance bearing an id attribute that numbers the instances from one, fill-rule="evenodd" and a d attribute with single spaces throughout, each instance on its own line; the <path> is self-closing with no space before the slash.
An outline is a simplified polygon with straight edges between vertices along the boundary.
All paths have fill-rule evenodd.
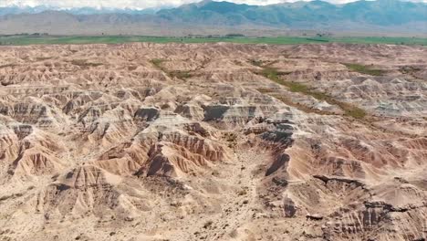
<path id="1" fill-rule="evenodd" d="M 0 33 L 183 35 L 312 30 L 427 35 L 427 4 L 399 0 L 245 5 L 205 0 L 165 9 L 0 8 Z"/>

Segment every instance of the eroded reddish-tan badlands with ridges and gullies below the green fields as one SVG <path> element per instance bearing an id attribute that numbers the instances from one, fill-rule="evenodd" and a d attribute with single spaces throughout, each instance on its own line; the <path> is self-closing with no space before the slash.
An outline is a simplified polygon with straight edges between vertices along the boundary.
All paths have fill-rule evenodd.
<path id="1" fill-rule="evenodd" d="M 0 48 L 0 240 L 427 236 L 427 48 Z"/>

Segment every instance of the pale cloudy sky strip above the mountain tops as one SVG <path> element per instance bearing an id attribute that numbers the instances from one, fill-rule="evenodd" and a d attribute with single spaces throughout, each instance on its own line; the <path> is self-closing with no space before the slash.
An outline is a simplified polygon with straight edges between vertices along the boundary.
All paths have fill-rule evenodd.
<path id="1" fill-rule="evenodd" d="M 199 0 L 200 1 L 200 0 Z M 6 5 L 49 5 L 54 7 L 114 7 L 114 8 L 147 8 L 147 7 L 159 7 L 161 5 L 182 5 L 193 2 L 199 2 L 197 0 L 0 0 L 0 6 Z M 292 2 L 295 0 L 228 0 L 228 2 L 234 3 L 245 3 L 249 5 L 270 5 L 282 2 Z M 331 3 L 347 3 L 352 0 L 327 0 Z M 427 2 L 427 0 L 417 0 Z"/>

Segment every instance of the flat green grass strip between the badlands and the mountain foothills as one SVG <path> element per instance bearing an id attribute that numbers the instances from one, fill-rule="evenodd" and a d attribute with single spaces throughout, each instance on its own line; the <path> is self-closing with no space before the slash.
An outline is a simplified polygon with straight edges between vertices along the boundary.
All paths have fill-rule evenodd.
<path id="1" fill-rule="evenodd" d="M 130 42 L 153 43 L 216 43 L 240 44 L 307 44 L 354 43 L 427 46 L 427 37 L 134 37 L 134 36 L 0 36 L 0 45 L 25 46 L 47 44 L 120 44 Z"/>

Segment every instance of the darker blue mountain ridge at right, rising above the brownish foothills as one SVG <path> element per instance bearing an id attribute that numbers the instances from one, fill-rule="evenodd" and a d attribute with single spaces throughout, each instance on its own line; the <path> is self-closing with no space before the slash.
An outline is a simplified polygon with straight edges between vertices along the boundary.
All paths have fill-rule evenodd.
<path id="1" fill-rule="evenodd" d="M 203 1 L 163 9 L 157 13 L 165 19 L 205 24 L 263 24 L 298 26 L 302 23 L 336 23 L 351 21 L 379 26 L 401 25 L 427 21 L 427 5 L 397 0 L 358 1 L 333 5 L 323 1 L 296 2 L 277 5 L 236 5 L 228 2 Z"/>

